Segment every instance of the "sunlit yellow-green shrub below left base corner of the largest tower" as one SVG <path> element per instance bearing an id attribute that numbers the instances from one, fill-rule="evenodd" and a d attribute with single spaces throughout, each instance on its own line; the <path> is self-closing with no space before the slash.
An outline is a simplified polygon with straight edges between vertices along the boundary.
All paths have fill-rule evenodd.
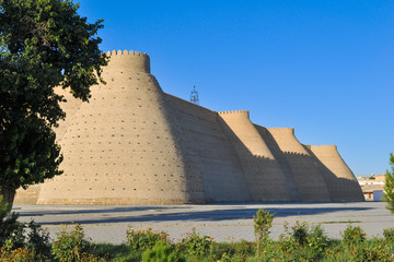
<path id="1" fill-rule="evenodd" d="M 53 245 L 53 254 L 61 262 L 77 262 L 89 257 L 89 246 L 80 225 L 77 224 L 71 231 L 67 231 L 67 226 L 63 226 Z"/>

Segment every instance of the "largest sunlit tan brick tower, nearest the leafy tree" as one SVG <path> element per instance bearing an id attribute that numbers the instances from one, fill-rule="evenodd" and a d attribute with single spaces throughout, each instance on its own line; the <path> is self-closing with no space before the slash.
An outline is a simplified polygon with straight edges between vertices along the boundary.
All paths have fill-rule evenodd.
<path id="1" fill-rule="evenodd" d="M 146 55 L 112 53 L 103 71 L 107 85 L 92 88 L 69 123 L 60 143 L 65 174 L 42 184 L 39 204 L 205 202 L 198 169 L 184 157 L 148 62 Z"/>

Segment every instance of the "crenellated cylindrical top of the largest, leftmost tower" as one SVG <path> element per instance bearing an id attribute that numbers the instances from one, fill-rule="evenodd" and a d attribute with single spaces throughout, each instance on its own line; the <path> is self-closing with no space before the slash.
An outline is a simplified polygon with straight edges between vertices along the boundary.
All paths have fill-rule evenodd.
<path id="1" fill-rule="evenodd" d="M 150 58 L 146 52 L 139 52 L 134 50 L 113 50 L 107 51 L 106 55 L 109 57 L 109 62 L 104 68 L 104 73 L 114 73 L 118 71 L 120 73 L 150 73 Z"/>

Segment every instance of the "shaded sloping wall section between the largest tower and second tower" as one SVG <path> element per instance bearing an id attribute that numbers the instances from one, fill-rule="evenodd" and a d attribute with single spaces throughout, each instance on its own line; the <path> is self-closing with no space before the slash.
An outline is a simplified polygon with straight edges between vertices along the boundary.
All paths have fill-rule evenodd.
<path id="1" fill-rule="evenodd" d="M 182 126 L 185 152 L 198 165 L 206 201 L 251 201 L 239 156 L 218 114 L 169 94 L 165 98 Z"/>

